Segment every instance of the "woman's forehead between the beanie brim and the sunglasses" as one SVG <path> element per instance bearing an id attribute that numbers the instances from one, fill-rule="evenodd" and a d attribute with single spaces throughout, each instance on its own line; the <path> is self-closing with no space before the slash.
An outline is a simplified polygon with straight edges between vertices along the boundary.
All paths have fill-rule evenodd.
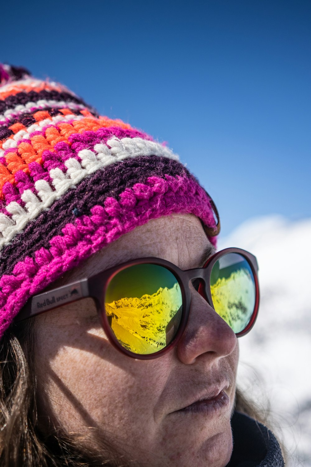
<path id="1" fill-rule="evenodd" d="M 148 256 L 173 262 L 180 269 L 190 269 L 200 265 L 202 253 L 209 249 L 211 253 L 214 251 L 197 217 L 173 214 L 152 219 L 122 235 L 90 256 L 81 267 L 70 271 L 66 278 L 81 279 L 116 264 Z"/>

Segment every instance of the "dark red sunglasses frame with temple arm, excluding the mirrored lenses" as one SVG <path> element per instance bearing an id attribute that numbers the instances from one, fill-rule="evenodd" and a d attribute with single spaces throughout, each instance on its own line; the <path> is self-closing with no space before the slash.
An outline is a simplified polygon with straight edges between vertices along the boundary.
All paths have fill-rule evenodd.
<path id="1" fill-rule="evenodd" d="M 94 299 L 98 316 L 101 322 L 101 325 L 104 328 L 104 331 L 110 340 L 111 344 L 123 354 L 128 355 L 129 357 L 136 358 L 139 360 L 151 360 L 153 358 L 160 357 L 166 352 L 169 352 L 180 340 L 180 337 L 185 331 L 188 317 L 189 317 L 189 310 L 190 310 L 190 301 L 191 301 L 191 294 L 189 289 L 189 282 L 199 279 L 200 286 L 199 286 L 199 293 L 200 295 L 207 301 L 207 303 L 214 309 L 213 300 L 210 290 L 210 277 L 213 266 L 221 256 L 227 255 L 228 253 L 237 253 L 243 256 L 253 272 L 254 280 L 255 280 L 255 289 L 256 289 L 256 298 L 255 298 L 255 306 L 253 314 L 249 320 L 249 324 L 241 331 L 240 333 L 236 333 L 237 337 L 240 337 L 246 333 L 248 333 L 253 325 L 255 324 L 258 308 L 259 308 L 259 285 L 258 285 L 258 264 L 256 257 L 249 253 L 248 251 L 242 250 L 240 248 L 226 248 L 221 250 L 214 255 L 212 255 L 203 268 L 195 268 L 195 269 L 187 269 L 183 271 L 175 266 L 173 263 L 159 259 L 159 258 L 140 258 L 133 261 L 125 262 L 122 264 L 118 264 L 117 266 L 106 269 L 103 272 L 96 274 L 95 276 L 88 277 L 86 279 L 82 279 L 80 281 L 64 285 L 62 287 L 58 287 L 57 289 L 49 290 L 48 292 L 41 293 L 39 295 L 35 295 L 30 300 L 28 300 L 27 304 L 23 307 L 21 312 L 18 314 L 15 321 L 21 321 L 27 318 L 31 318 L 35 315 L 43 313 L 48 310 L 53 310 L 62 306 L 63 304 L 68 304 L 71 302 L 75 302 L 76 300 L 80 300 L 84 297 L 91 297 Z M 157 264 L 159 266 L 164 266 L 166 269 L 171 271 L 173 275 L 178 280 L 180 285 L 180 290 L 182 294 L 182 315 L 180 320 L 179 329 L 170 344 L 168 344 L 163 349 L 155 352 L 154 354 L 134 354 L 130 352 L 126 348 L 122 347 L 119 341 L 117 340 L 116 336 L 114 335 L 113 331 L 111 330 L 111 326 L 109 325 L 108 317 L 105 313 L 105 291 L 107 289 L 107 285 L 111 281 L 111 279 L 116 276 L 118 272 L 128 267 L 138 265 L 138 264 Z"/>

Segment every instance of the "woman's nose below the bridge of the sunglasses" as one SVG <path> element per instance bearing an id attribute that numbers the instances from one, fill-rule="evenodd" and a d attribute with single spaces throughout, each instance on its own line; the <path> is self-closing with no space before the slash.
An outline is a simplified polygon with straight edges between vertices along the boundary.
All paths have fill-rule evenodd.
<path id="1" fill-rule="evenodd" d="M 192 364 L 203 355 L 211 360 L 230 355 L 237 345 L 235 333 L 207 301 L 191 287 L 191 304 L 186 329 L 177 344 L 177 355 Z"/>

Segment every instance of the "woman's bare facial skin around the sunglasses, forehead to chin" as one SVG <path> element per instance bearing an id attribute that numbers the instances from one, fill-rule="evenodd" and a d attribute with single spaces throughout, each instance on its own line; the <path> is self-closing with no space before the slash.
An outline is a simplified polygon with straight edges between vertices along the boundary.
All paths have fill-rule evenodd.
<path id="1" fill-rule="evenodd" d="M 90 257 L 66 282 L 147 256 L 180 269 L 196 268 L 206 261 L 206 251 L 212 254 L 213 248 L 197 218 L 163 217 Z M 178 345 L 149 361 L 131 359 L 111 346 L 91 299 L 37 317 L 39 392 L 54 423 L 67 433 L 92 437 L 96 432 L 114 440 L 114 449 L 126 453 L 128 461 L 225 466 L 232 451 L 238 345 L 229 326 L 190 289 L 189 320 Z M 226 396 L 222 405 L 199 403 L 221 390 L 227 403 Z"/>

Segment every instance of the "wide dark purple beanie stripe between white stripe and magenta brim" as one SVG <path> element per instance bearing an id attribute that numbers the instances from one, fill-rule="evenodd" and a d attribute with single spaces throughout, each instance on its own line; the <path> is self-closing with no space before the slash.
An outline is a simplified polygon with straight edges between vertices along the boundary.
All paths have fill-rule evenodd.
<path id="1" fill-rule="evenodd" d="M 35 170 L 41 170 L 44 177 L 49 177 L 40 164 L 33 162 L 29 167 L 34 178 L 36 178 Z M 74 222 L 77 216 L 89 214 L 95 202 L 104 204 L 105 199 L 111 196 L 119 199 L 125 188 L 143 183 L 148 177 L 163 178 L 165 175 L 192 177 L 179 162 L 159 156 L 124 159 L 122 162 L 97 170 L 92 176 L 82 180 L 75 189 L 67 191 L 62 198 L 55 201 L 48 211 L 41 212 L 23 232 L 14 237 L 10 245 L 2 248 L 0 276 L 12 271 L 14 264 L 24 259 L 26 255 L 33 256 L 38 248 L 48 248 L 50 239 L 61 233 L 66 223 Z M 40 173 L 39 178 L 43 178 Z M 45 226 L 44 235 L 42 235 L 42 226 Z"/>

